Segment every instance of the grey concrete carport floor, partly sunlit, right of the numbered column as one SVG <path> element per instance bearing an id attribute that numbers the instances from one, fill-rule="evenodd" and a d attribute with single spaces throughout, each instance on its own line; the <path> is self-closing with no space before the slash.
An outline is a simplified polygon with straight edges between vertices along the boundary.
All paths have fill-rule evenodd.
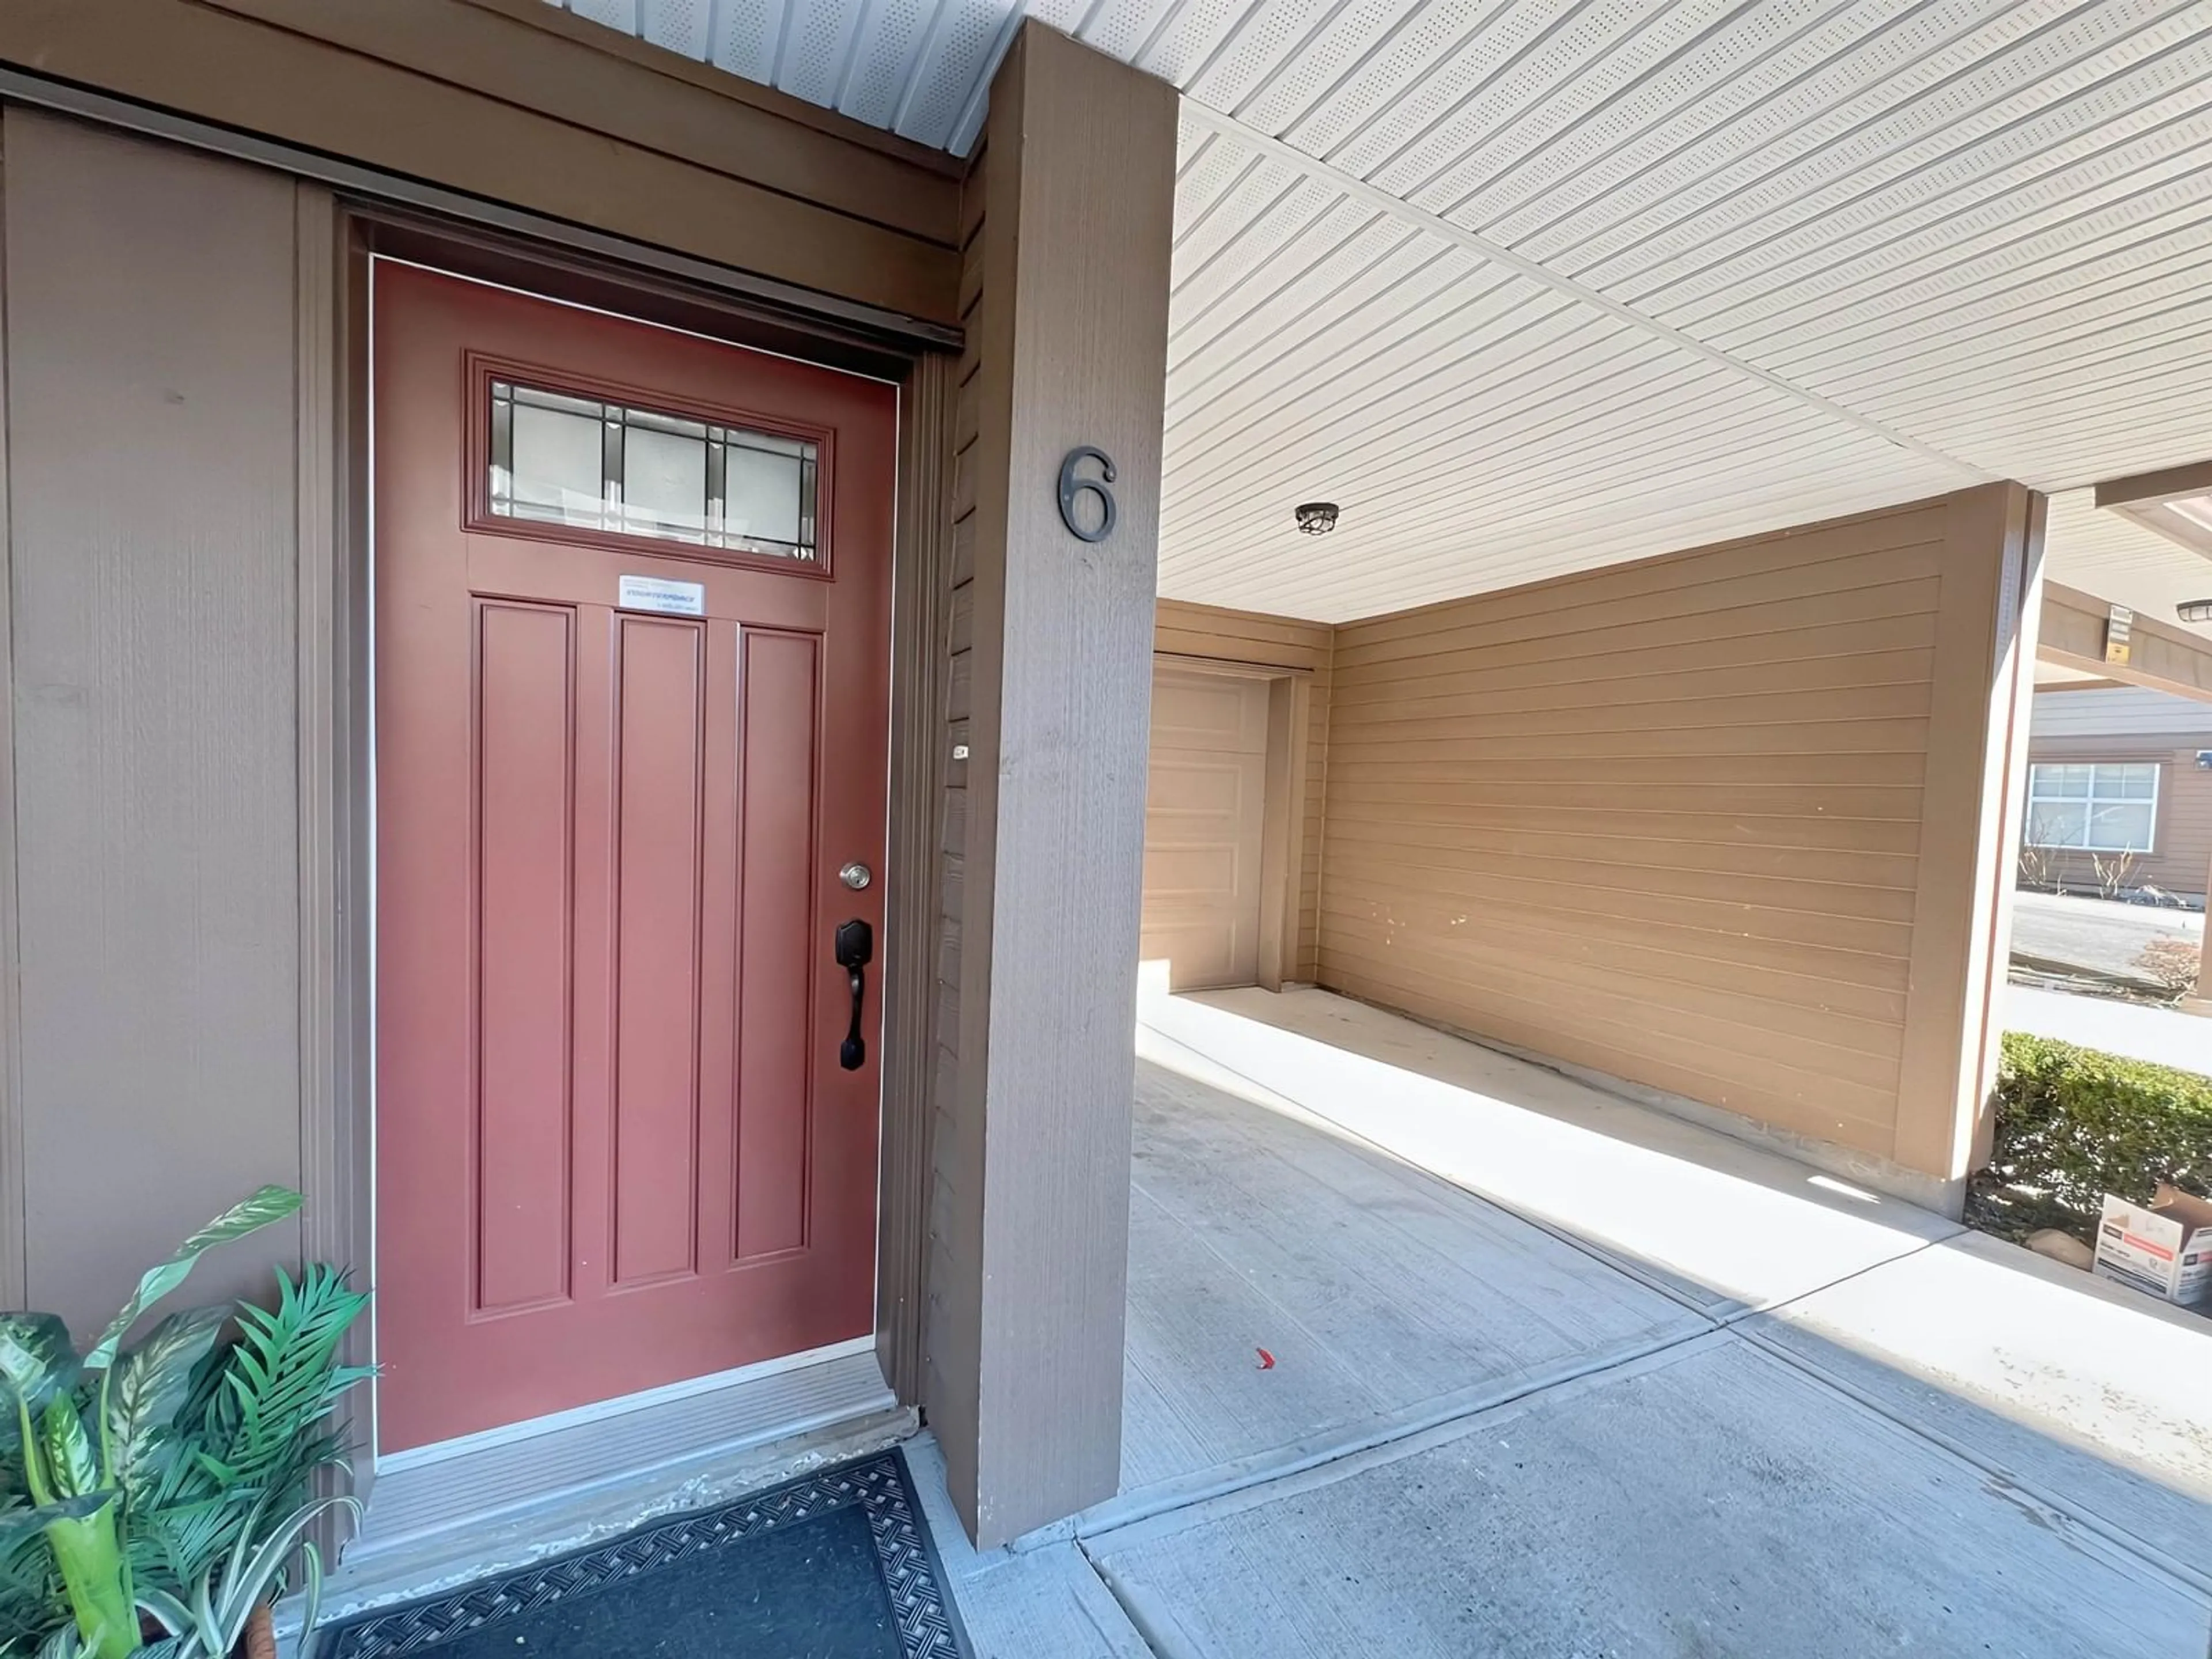
<path id="1" fill-rule="evenodd" d="M 2205 1659 L 2212 1321 L 1325 993 L 1139 1055 L 1124 1489 L 925 1493 L 984 1659 Z"/>

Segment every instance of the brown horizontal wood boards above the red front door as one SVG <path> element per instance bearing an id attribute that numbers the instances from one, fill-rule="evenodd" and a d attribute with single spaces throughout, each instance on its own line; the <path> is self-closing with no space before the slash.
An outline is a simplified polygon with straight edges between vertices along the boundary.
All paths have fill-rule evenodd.
<path id="1" fill-rule="evenodd" d="M 11 0 L 0 62 L 951 323 L 956 164 L 551 7 Z"/>

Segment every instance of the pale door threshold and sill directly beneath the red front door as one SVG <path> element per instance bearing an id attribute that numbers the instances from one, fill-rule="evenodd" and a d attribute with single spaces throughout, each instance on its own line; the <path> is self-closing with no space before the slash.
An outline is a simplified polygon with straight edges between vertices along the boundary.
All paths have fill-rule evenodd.
<path id="1" fill-rule="evenodd" d="M 325 1617 L 469 1584 L 907 1438 L 874 1340 L 378 1460 Z"/>

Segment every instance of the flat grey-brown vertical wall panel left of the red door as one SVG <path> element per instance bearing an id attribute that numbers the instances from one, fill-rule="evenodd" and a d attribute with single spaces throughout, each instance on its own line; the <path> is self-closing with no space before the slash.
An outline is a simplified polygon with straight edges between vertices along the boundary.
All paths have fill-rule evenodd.
<path id="1" fill-rule="evenodd" d="M 20 108 L 4 153 L 27 1290 L 91 1323 L 301 1181 L 294 186 Z"/>

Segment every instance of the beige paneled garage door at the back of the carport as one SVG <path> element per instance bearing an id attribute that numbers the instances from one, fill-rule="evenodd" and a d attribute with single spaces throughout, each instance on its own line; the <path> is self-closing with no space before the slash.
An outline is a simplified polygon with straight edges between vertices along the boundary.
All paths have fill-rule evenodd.
<path id="1" fill-rule="evenodd" d="M 1267 818 L 1267 681 L 1152 672 L 1152 792 L 1144 818 L 1144 960 L 1199 991 L 1259 978 Z"/>

